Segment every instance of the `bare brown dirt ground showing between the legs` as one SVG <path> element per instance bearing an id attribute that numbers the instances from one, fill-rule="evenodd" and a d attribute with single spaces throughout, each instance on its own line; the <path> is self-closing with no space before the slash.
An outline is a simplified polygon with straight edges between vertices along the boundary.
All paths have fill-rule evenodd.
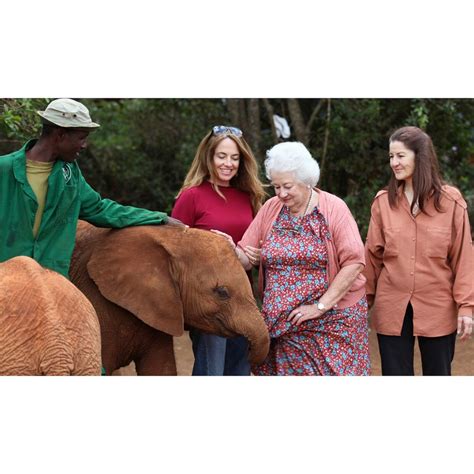
<path id="1" fill-rule="evenodd" d="M 380 358 L 377 346 L 377 337 L 373 331 L 369 336 L 370 358 L 372 362 L 372 375 L 380 375 Z M 178 375 L 191 375 L 194 357 L 191 349 L 191 340 L 186 332 L 181 337 L 174 339 L 174 352 Z M 133 367 L 120 369 L 117 375 L 134 375 Z M 420 354 L 418 344 L 415 344 L 415 373 L 421 375 Z M 474 375 L 474 341 L 472 339 L 456 343 L 456 353 L 452 365 L 453 375 Z"/>

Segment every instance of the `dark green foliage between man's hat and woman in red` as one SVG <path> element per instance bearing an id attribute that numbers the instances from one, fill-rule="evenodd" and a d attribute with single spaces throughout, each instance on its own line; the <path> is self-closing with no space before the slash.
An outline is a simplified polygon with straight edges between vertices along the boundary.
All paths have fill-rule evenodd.
<path id="1" fill-rule="evenodd" d="M 81 161 L 104 195 L 170 212 L 196 148 L 211 124 L 225 121 L 220 100 L 84 101 L 101 125 Z"/>

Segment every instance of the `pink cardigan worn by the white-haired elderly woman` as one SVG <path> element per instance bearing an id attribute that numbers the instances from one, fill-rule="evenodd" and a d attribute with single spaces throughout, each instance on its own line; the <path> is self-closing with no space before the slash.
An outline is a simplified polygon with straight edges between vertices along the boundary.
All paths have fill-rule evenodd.
<path id="1" fill-rule="evenodd" d="M 347 204 L 337 196 L 316 189 L 319 194 L 319 210 L 326 219 L 331 233 L 331 239 L 326 239 L 328 250 L 328 279 L 332 283 L 342 267 L 354 263 L 365 266 L 364 244 L 360 238 L 357 224 L 352 217 Z M 260 247 L 260 241 L 265 242 L 283 203 L 278 197 L 269 199 L 260 209 L 255 219 L 238 243 L 243 249 L 247 245 Z M 263 294 L 263 266 L 260 263 L 258 274 L 258 289 Z M 348 308 L 357 303 L 365 295 L 365 277 L 360 273 L 350 290 L 337 303 L 338 309 Z"/>

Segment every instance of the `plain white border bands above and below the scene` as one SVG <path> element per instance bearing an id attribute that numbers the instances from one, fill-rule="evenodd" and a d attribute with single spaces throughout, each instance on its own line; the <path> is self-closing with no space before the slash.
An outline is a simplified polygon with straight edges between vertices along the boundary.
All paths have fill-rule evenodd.
<path id="1" fill-rule="evenodd" d="M 0 95 L 474 97 L 464 2 L 152 3 L 3 5 Z M 471 377 L 0 382 L 2 472 L 472 468 Z"/>

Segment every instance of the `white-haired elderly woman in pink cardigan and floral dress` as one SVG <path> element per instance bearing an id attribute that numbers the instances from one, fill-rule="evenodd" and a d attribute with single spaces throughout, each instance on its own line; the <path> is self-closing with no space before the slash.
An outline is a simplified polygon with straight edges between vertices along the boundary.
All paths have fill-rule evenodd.
<path id="1" fill-rule="evenodd" d="M 275 145 L 265 169 L 276 196 L 236 247 L 244 268 L 259 264 L 271 337 L 253 372 L 369 375 L 364 245 L 351 212 L 315 188 L 319 166 L 302 143 Z"/>

